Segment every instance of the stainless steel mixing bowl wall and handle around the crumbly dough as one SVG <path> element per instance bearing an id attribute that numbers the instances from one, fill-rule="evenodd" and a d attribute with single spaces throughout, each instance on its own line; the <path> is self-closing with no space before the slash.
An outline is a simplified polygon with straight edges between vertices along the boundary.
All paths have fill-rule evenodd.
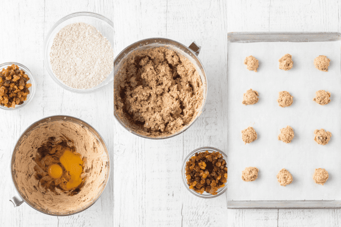
<path id="1" fill-rule="evenodd" d="M 189 47 L 186 47 L 185 45 L 178 43 L 177 41 L 174 41 L 174 40 L 169 40 L 169 39 L 164 39 L 164 38 L 150 38 L 150 39 L 141 40 L 141 41 L 131 44 L 130 46 L 126 47 L 121 53 L 119 53 L 119 55 L 114 59 L 114 92 L 115 92 L 115 76 L 118 74 L 120 70 L 120 67 L 121 67 L 120 64 L 123 63 L 124 60 L 133 51 L 143 50 L 143 49 L 152 48 L 152 47 L 166 47 L 166 48 L 176 51 L 177 53 L 191 60 L 191 62 L 195 65 L 196 69 L 200 72 L 200 77 L 203 83 L 203 102 L 202 102 L 202 106 L 200 110 L 198 111 L 197 116 L 195 117 L 195 119 L 192 119 L 191 123 L 186 125 L 182 130 L 178 131 L 175 134 L 163 136 L 163 137 L 148 137 L 148 136 L 140 135 L 134 129 L 129 127 L 127 124 L 125 124 L 122 121 L 122 119 L 119 118 L 119 116 L 117 116 L 115 105 L 114 105 L 114 116 L 115 116 L 115 119 L 120 123 L 120 125 L 123 126 L 123 128 L 125 128 L 126 130 L 128 130 L 129 132 L 137 136 L 147 138 L 147 139 L 166 139 L 166 138 L 177 136 L 183 133 L 189 127 L 191 127 L 193 123 L 199 118 L 206 103 L 207 79 L 206 79 L 204 66 L 202 65 L 201 61 L 198 58 L 201 47 L 198 46 L 195 42 L 193 42 Z"/>

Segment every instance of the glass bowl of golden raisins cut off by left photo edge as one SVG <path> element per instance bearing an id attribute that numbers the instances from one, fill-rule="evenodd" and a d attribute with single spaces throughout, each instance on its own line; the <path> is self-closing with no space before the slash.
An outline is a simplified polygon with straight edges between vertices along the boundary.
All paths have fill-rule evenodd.
<path id="1" fill-rule="evenodd" d="M 0 109 L 17 110 L 31 102 L 36 81 L 30 70 L 16 62 L 0 65 Z"/>

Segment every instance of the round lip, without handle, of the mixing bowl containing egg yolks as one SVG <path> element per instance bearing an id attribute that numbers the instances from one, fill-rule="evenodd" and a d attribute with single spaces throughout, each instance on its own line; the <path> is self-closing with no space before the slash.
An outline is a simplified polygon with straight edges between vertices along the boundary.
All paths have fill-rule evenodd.
<path id="1" fill-rule="evenodd" d="M 18 190 L 16 184 L 14 183 L 14 176 L 13 176 L 13 172 L 12 172 L 12 164 L 13 164 L 12 162 L 13 162 L 13 155 L 14 155 L 15 148 L 17 147 L 17 145 L 18 145 L 20 139 L 23 137 L 23 135 L 26 133 L 26 131 L 27 131 L 29 128 L 31 128 L 34 124 L 36 124 L 36 123 L 38 123 L 38 122 L 40 122 L 40 121 L 41 121 L 41 123 L 43 123 L 43 122 L 48 121 L 49 119 L 51 120 L 51 118 L 59 118 L 59 117 L 60 117 L 60 118 L 71 118 L 71 119 L 75 119 L 75 120 L 81 121 L 82 123 L 84 123 L 84 124 L 86 124 L 87 126 L 91 127 L 91 128 L 98 134 L 99 138 L 103 141 L 103 145 L 105 146 L 105 149 L 106 149 L 107 154 L 108 154 L 108 167 L 109 167 L 109 169 L 108 169 L 108 177 L 107 177 L 107 181 L 105 182 L 105 185 L 104 185 L 103 190 L 102 190 L 101 193 L 98 195 L 98 197 L 97 197 L 95 200 L 92 201 L 92 203 L 91 203 L 89 206 L 87 206 L 86 208 L 84 208 L 84 209 L 82 209 L 82 210 L 79 210 L 79 211 L 74 212 L 74 213 L 69 213 L 69 214 L 53 214 L 53 213 L 48 213 L 48 212 L 44 212 L 43 210 L 40 210 L 40 209 L 38 209 L 38 208 L 32 206 L 29 202 L 26 201 L 26 199 L 25 199 L 25 198 L 21 195 L 21 193 L 19 192 L 19 190 Z M 96 136 L 97 136 L 97 135 L 96 135 Z M 40 120 L 38 120 L 38 121 L 35 121 L 35 122 L 32 123 L 30 126 L 28 126 L 28 127 L 25 129 L 25 131 L 20 135 L 19 139 L 17 140 L 16 145 L 15 145 L 14 148 L 13 148 L 13 152 L 12 152 L 12 155 L 11 155 L 11 165 L 10 165 L 10 171 L 11 171 L 11 176 L 12 176 L 12 182 L 13 182 L 13 184 L 14 184 L 14 188 L 16 189 L 18 195 L 20 195 L 20 197 L 21 197 L 29 206 L 31 206 L 31 207 L 34 208 L 35 210 L 38 210 L 39 212 L 42 212 L 42 213 L 44 213 L 44 214 L 48 214 L 48 215 L 51 215 L 51 216 L 70 216 L 70 215 L 73 215 L 73 214 L 76 214 L 76 213 L 80 213 L 80 212 L 82 212 L 82 211 L 88 209 L 88 208 L 89 208 L 90 206 L 92 206 L 93 204 L 95 204 L 95 202 L 101 197 L 101 195 L 102 195 L 102 193 L 104 192 L 106 186 L 108 185 L 108 182 L 109 182 L 109 179 L 110 179 L 110 168 L 111 168 L 111 166 L 110 166 L 110 154 L 109 154 L 109 151 L 108 151 L 108 147 L 107 147 L 107 145 L 106 145 L 104 139 L 102 138 L 102 136 L 98 133 L 98 131 L 97 131 L 95 128 L 93 128 L 93 127 L 92 127 L 90 124 L 88 124 L 87 122 L 85 122 L 85 121 L 83 121 L 83 120 L 81 120 L 81 119 L 79 119 L 79 118 L 77 118 L 77 117 L 73 117 L 73 116 L 69 116 L 69 115 L 53 115 L 53 116 L 45 117 L 45 118 L 42 118 L 42 119 L 40 119 Z"/>

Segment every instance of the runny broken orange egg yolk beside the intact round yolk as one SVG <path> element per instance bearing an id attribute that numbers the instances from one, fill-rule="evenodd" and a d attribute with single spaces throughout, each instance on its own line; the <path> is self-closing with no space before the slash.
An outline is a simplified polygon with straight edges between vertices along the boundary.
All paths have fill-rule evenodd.
<path id="1" fill-rule="evenodd" d="M 71 176 L 70 181 L 66 183 L 66 189 L 69 190 L 80 185 L 82 183 L 80 176 L 83 171 L 81 157 L 73 154 L 70 149 L 65 149 L 59 160 Z"/>

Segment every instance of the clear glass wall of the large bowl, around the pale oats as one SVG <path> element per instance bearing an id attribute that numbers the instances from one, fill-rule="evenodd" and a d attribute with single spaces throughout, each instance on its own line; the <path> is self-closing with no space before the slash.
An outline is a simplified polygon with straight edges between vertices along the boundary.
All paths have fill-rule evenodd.
<path id="1" fill-rule="evenodd" d="M 88 25 L 92 25 L 95 27 L 103 37 L 105 37 L 111 44 L 111 48 L 113 48 L 114 45 L 114 24 L 112 21 L 109 19 L 103 17 L 102 15 L 95 14 L 95 13 L 90 13 L 90 12 L 79 12 L 79 13 L 74 13 L 70 14 L 61 20 L 59 20 L 50 30 L 48 33 L 45 42 L 44 42 L 44 64 L 49 72 L 51 78 L 62 88 L 75 92 L 75 93 L 92 93 L 99 91 L 108 85 L 112 84 L 114 80 L 114 65 L 112 64 L 112 72 L 107 76 L 107 78 L 102 81 L 99 85 L 92 87 L 92 88 L 87 88 L 87 89 L 76 89 L 72 88 L 68 85 L 66 85 L 63 81 L 61 81 L 55 73 L 52 70 L 51 62 L 50 62 L 50 52 L 51 52 L 51 47 L 53 45 L 53 40 L 55 36 L 58 34 L 58 32 L 63 29 L 65 26 L 74 24 L 74 23 L 86 23 Z"/>

